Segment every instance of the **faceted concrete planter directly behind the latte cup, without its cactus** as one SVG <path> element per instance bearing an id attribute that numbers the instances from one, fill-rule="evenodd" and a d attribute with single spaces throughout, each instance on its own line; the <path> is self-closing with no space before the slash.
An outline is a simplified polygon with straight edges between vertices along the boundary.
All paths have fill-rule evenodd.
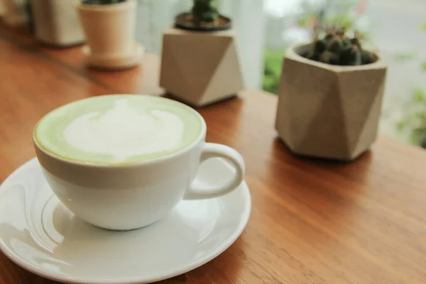
<path id="1" fill-rule="evenodd" d="M 234 31 L 166 31 L 160 87 L 193 107 L 236 96 L 243 79 Z"/>

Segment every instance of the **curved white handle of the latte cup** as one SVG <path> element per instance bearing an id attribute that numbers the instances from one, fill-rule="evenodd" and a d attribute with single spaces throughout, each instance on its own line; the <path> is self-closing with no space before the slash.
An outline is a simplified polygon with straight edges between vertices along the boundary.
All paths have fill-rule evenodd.
<path id="1" fill-rule="evenodd" d="M 226 195 L 226 193 L 235 190 L 241 182 L 243 182 L 245 174 L 244 160 L 243 157 L 241 157 L 241 155 L 233 148 L 222 144 L 205 143 L 202 148 L 200 163 L 203 163 L 209 158 L 224 158 L 225 160 L 228 160 L 236 170 L 234 177 L 224 185 L 203 185 L 196 187 L 191 184 L 185 194 L 185 200 L 200 200 Z"/>

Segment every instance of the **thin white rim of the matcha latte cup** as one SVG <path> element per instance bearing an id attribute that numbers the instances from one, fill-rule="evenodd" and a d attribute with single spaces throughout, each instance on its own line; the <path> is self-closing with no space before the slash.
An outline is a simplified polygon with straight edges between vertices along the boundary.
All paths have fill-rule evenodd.
<path id="1" fill-rule="evenodd" d="M 149 94 L 103 94 L 103 95 L 94 96 L 94 97 L 107 97 L 107 96 L 111 96 L 111 95 L 112 96 L 114 96 L 114 95 L 128 95 L 129 96 L 129 95 L 131 95 L 131 96 L 151 96 L 151 97 L 154 97 L 154 96 L 149 95 Z M 181 106 L 189 109 L 190 111 L 192 111 L 192 113 L 195 114 L 195 116 L 197 116 L 198 119 L 200 119 L 200 122 L 201 122 L 201 125 L 202 125 L 202 129 L 200 131 L 200 134 L 197 136 L 197 138 L 194 139 L 194 141 L 192 141 L 190 143 L 190 145 L 185 146 L 184 148 L 181 148 L 180 150 L 175 151 L 174 153 L 170 153 L 170 154 L 164 155 L 162 157 L 153 158 L 151 160 L 136 161 L 136 162 L 133 162 L 133 163 L 122 163 L 122 164 L 116 164 L 116 163 L 97 163 L 97 162 L 84 162 L 82 160 L 72 160 L 70 158 L 65 158 L 65 157 L 62 157 L 62 156 L 60 156 L 58 154 L 55 154 L 55 153 L 53 153 L 51 151 L 46 150 L 45 148 L 43 148 L 43 146 L 40 145 L 40 143 L 38 143 L 37 139 L 35 138 L 35 129 L 37 129 L 37 126 L 40 123 L 40 121 L 47 114 L 49 114 L 51 111 L 54 111 L 55 109 L 58 109 L 58 107 L 56 107 L 55 109 L 49 111 L 47 114 L 45 114 L 44 116 L 42 116 L 37 121 L 37 123 L 33 127 L 33 144 L 44 155 L 48 155 L 50 158 L 53 158 L 55 160 L 58 160 L 58 161 L 60 161 L 62 163 L 66 163 L 66 164 L 69 164 L 69 165 L 77 165 L 77 166 L 87 167 L 87 168 L 110 168 L 110 169 L 121 168 L 122 169 L 122 168 L 140 167 L 140 166 L 143 166 L 143 165 L 153 165 L 155 163 L 161 163 L 161 162 L 164 162 L 165 160 L 169 160 L 169 159 L 175 158 L 178 155 L 182 155 L 182 153 L 186 153 L 187 151 L 190 151 L 192 148 L 194 148 L 195 146 L 197 146 L 202 139 L 205 138 L 206 133 L 207 133 L 207 125 L 206 125 L 206 122 L 204 121 L 204 118 L 201 116 L 201 114 L 198 111 L 196 111 L 195 109 L 192 109 L 192 107 L 189 107 L 186 104 L 183 104 L 182 102 L 175 101 L 174 99 L 168 99 L 168 98 L 161 97 L 161 96 L 155 96 L 155 97 L 157 97 L 159 99 L 168 100 L 170 102 L 173 102 L 174 104 L 181 105 Z M 90 98 L 93 98 L 93 97 L 87 97 L 87 98 L 84 98 L 84 99 L 90 99 Z M 84 99 L 80 99 L 80 101 L 84 100 Z M 72 101 L 72 102 L 67 103 L 67 104 L 72 104 L 74 102 L 77 102 L 77 101 Z M 60 106 L 60 107 L 63 107 L 65 105 L 67 105 L 67 104 L 62 104 L 62 106 Z"/>

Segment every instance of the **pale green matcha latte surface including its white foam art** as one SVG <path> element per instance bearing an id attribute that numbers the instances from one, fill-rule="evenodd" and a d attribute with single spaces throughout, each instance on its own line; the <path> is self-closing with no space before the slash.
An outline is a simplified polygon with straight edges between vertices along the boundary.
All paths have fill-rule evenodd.
<path id="1" fill-rule="evenodd" d="M 135 163 L 180 151 L 202 134 L 190 107 L 159 97 L 107 95 L 82 99 L 41 119 L 35 141 L 62 158 Z"/>

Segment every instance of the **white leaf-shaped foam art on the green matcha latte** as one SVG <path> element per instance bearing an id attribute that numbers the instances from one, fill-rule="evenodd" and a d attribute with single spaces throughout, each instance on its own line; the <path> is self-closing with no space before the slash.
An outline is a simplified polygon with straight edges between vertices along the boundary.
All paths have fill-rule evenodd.
<path id="1" fill-rule="evenodd" d="M 183 130 L 183 121 L 175 114 L 156 109 L 143 114 L 126 99 L 118 99 L 104 114 L 91 112 L 71 121 L 63 136 L 78 150 L 111 155 L 121 162 L 133 155 L 179 148 Z"/>

